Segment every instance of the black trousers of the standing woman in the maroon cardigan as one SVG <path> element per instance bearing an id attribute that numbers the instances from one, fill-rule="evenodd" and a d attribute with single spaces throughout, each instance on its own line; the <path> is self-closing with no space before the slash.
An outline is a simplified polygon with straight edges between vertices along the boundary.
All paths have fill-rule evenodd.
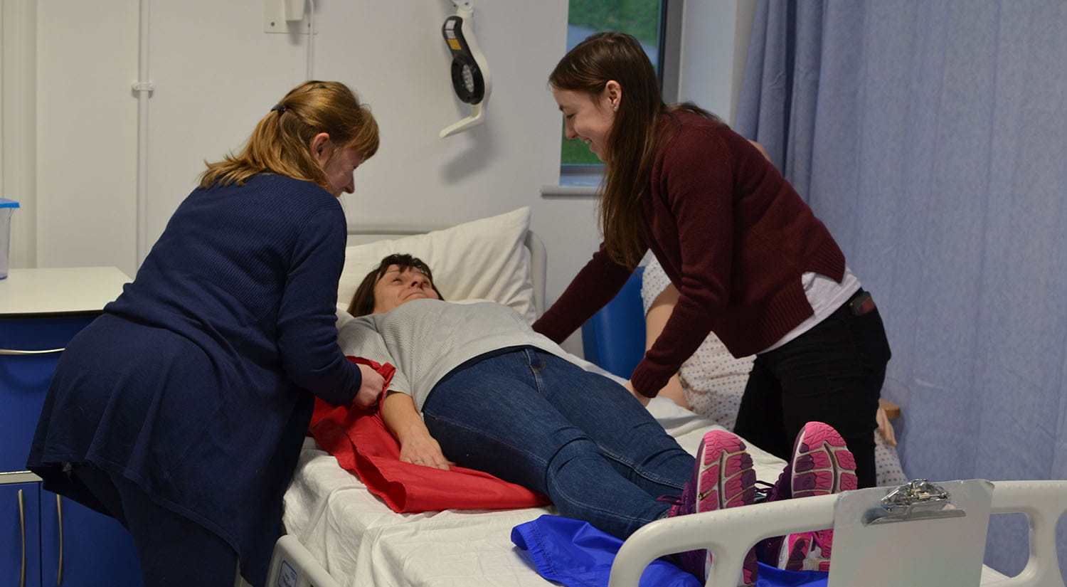
<path id="1" fill-rule="evenodd" d="M 864 488 L 875 486 L 875 414 L 891 353 L 878 310 L 857 316 L 850 301 L 797 338 L 755 356 L 734 431 L 790 460 L 805 424 L 829 424 L 856 456 Z"/>

